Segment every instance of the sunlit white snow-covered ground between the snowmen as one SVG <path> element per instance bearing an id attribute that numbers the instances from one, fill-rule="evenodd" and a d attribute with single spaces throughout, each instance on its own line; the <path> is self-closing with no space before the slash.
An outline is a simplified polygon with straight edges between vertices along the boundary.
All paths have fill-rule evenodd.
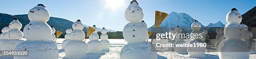
<path id="1" fill-rule="evenodd" d="M 64 50 L 61 49 L 61 43 L 64 39 L 57 39 L 56 43 L 58 45 L 59 49 L 59 59 L 62 59 L 65 57 Z M 110 42 L 110 52 L 107 53 L 102 53 L 98 55 L 92 55 L 92 54 L 87 54 L 88 59 L 119 59 L 119 53 L 121 48 L 123 47 L 125 42 L 124 39 L 108 39 Z M 166 42 L 167 39 L 161 40 L 161 41 L 156 41 L 155 42 Z M 90 40 L 87 39 L 86 43 L 89 42 Z M 189 39 L 186 39 L 185 42 L 189 42 Z M 212 39 L 212 42 L 215 42 L 214 39 Z M 214 45 L 214 44 L 213 44 Z M 212 47 L 214 48 L 214 47 Z M 206 52 L 205 55 L 206 57 L 204 58 L 189 58 L 187 57 L 187 54 L 178 54 L 176 52 L 157 52 L 158 54 L 158 59 L 219 59 L 218 58 L 218 52 Z M 3 59 L 3 57 L 0 57 L 0 59 Z M 250 59 L 256 59 L 256 54 L 250 54 Z"/>

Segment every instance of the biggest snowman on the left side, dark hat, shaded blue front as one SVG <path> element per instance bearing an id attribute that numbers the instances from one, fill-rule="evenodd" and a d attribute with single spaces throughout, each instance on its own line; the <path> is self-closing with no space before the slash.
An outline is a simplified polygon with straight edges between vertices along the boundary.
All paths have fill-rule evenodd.
<path id="1" fill-rule="evenodd" d="M 28 11 L 28 19 L 31 21 L 24 29 L 24 37 L 27 39 L 17 45 L 16 50 L 29 51 L 28 57 L 14 57 L 14 59 L 58 59 L 57 45 L 51 38 L 51 27 L 46 23 L 50 14 L 43 4 L 38 4 Z"/>

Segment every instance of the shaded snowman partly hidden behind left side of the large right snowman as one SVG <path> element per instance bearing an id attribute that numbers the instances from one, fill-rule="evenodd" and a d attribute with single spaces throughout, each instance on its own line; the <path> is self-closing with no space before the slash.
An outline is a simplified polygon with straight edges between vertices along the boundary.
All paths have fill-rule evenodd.
<path id="1" fill-rule="evenodd" d="M 216 37 L 215 37 L 216 40 L 217 40 L 217 42 L 215 43 L 215 48 L 216 48 L 216 50 L 218 50 L 218 47 L 219 47 L 220 42 L 225 39 L 225 37 L 224 37 L 224 35 L 222 34 L 222 32 L 223 32 L 223 30 L 222 30 L 220 27 L 218 27 L 218 28 L 216 29 L 216 33 L 217 33 L 217 35 L 216 35 Z"/>

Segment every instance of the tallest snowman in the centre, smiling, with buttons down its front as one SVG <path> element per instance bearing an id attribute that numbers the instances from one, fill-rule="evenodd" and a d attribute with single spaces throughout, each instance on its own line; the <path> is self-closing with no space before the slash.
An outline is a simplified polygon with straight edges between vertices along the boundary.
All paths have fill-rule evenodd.
<path id="1" fill-rule="evenodd" d="M 129 23 L 123 29 L 123 37 L 128 44 L 121 49 L 120 59 L 157 59 L 154 45 L 146 42 L 148 30 L 141 22 L 143 12 L 136 0 L 125 10 L 125 19 Z"/>

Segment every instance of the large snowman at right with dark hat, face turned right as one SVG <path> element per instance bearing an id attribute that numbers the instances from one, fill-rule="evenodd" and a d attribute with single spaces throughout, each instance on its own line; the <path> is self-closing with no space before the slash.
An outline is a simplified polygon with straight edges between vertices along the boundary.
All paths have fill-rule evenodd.
<path id="1" fill-rule="evenodd" d="M 233 8 L 226 15 L 228 22 L 224 28 L 224 36 L 218 47 L 218 55 L 220 59 L 249 59 L 249 49 L 246 42 L 241 39 L 244 37 L 244 28 L 240 25 L 242 16 Z"/>

